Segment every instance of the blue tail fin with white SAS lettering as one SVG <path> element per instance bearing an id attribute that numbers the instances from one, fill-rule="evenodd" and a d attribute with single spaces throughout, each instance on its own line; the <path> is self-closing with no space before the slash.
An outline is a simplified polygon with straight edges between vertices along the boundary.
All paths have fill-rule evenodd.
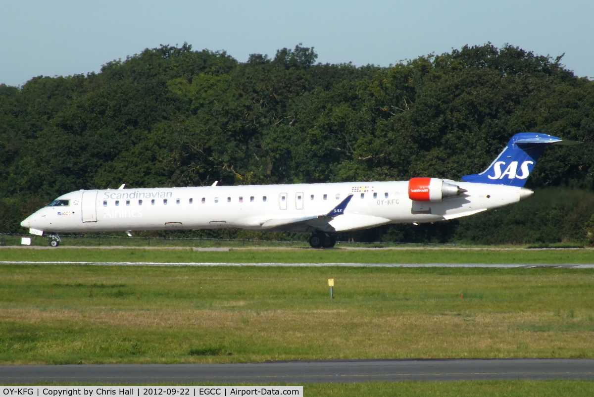
<path id="1" fill-rule="evenodd" d="M 518 133 L 499 156 L 480 174 L 464 175 L 462 181 L 523 187 L 546 146 L 563 140 L 546 134 Z M 573 144 L 572 141 L 563 141 Z"/>

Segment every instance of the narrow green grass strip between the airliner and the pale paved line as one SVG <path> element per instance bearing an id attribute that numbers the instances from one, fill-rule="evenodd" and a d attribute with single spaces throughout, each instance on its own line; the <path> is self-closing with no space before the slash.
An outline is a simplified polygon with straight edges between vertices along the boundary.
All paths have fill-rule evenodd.
<path id="1" fill-rule="evenodd" d="M 239 249 L 0 248 L 0 261 L 153 261 L 225 263 L 594 263 L 590 249 Z"/>

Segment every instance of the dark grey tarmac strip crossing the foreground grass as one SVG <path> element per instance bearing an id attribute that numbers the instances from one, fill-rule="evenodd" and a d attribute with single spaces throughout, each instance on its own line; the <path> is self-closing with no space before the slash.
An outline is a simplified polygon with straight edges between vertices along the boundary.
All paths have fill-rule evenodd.
<path id="1" fill-rule="evenodd" d="M 594 379 L 590 359 L 277 361 L 251 364 L 0 366 L 0 383 L 354 383 Z"/>

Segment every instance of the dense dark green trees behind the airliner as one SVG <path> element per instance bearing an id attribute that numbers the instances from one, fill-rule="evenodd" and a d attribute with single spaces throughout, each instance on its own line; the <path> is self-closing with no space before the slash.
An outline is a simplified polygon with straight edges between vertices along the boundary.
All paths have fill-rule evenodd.
<path id="1" fill-rule="evenodd" d="M 20 220 L 60 194 L 122 183 L 459 180 L 485 169 L 514 133 L 535 131 L 582 141 L 546 150 L 529 178 L 527 187 L 556 198 L 528 200 L 521 215 L 502 209 L 352 237 L 586 241 L 594 83 L 561 60 L 488 43 L 390 67 L 321 64 L 301 45 L 238 62 L 184 43 L 99 73 L 0 84 L 0 232 L 23 232 Z M 551 232 L 511 237 L 504 225 Z"/>

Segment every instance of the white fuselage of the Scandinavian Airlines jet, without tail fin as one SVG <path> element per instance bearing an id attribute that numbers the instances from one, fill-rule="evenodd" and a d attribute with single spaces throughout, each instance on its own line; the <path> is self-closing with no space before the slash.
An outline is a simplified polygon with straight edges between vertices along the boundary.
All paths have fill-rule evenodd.
<path id="1" fill-rule="evenodd" d="M 459 218 L 515 203 L 532 191 L 453 182 L 466 193 L 437 202 L 409 198 L 409 181 L 80 190 L 64 194 L 21 225 L 50 233 L 242 228 L 345 232 L 388 223 Z M 341 216 L 319 222 L 347 196 Z"/>

